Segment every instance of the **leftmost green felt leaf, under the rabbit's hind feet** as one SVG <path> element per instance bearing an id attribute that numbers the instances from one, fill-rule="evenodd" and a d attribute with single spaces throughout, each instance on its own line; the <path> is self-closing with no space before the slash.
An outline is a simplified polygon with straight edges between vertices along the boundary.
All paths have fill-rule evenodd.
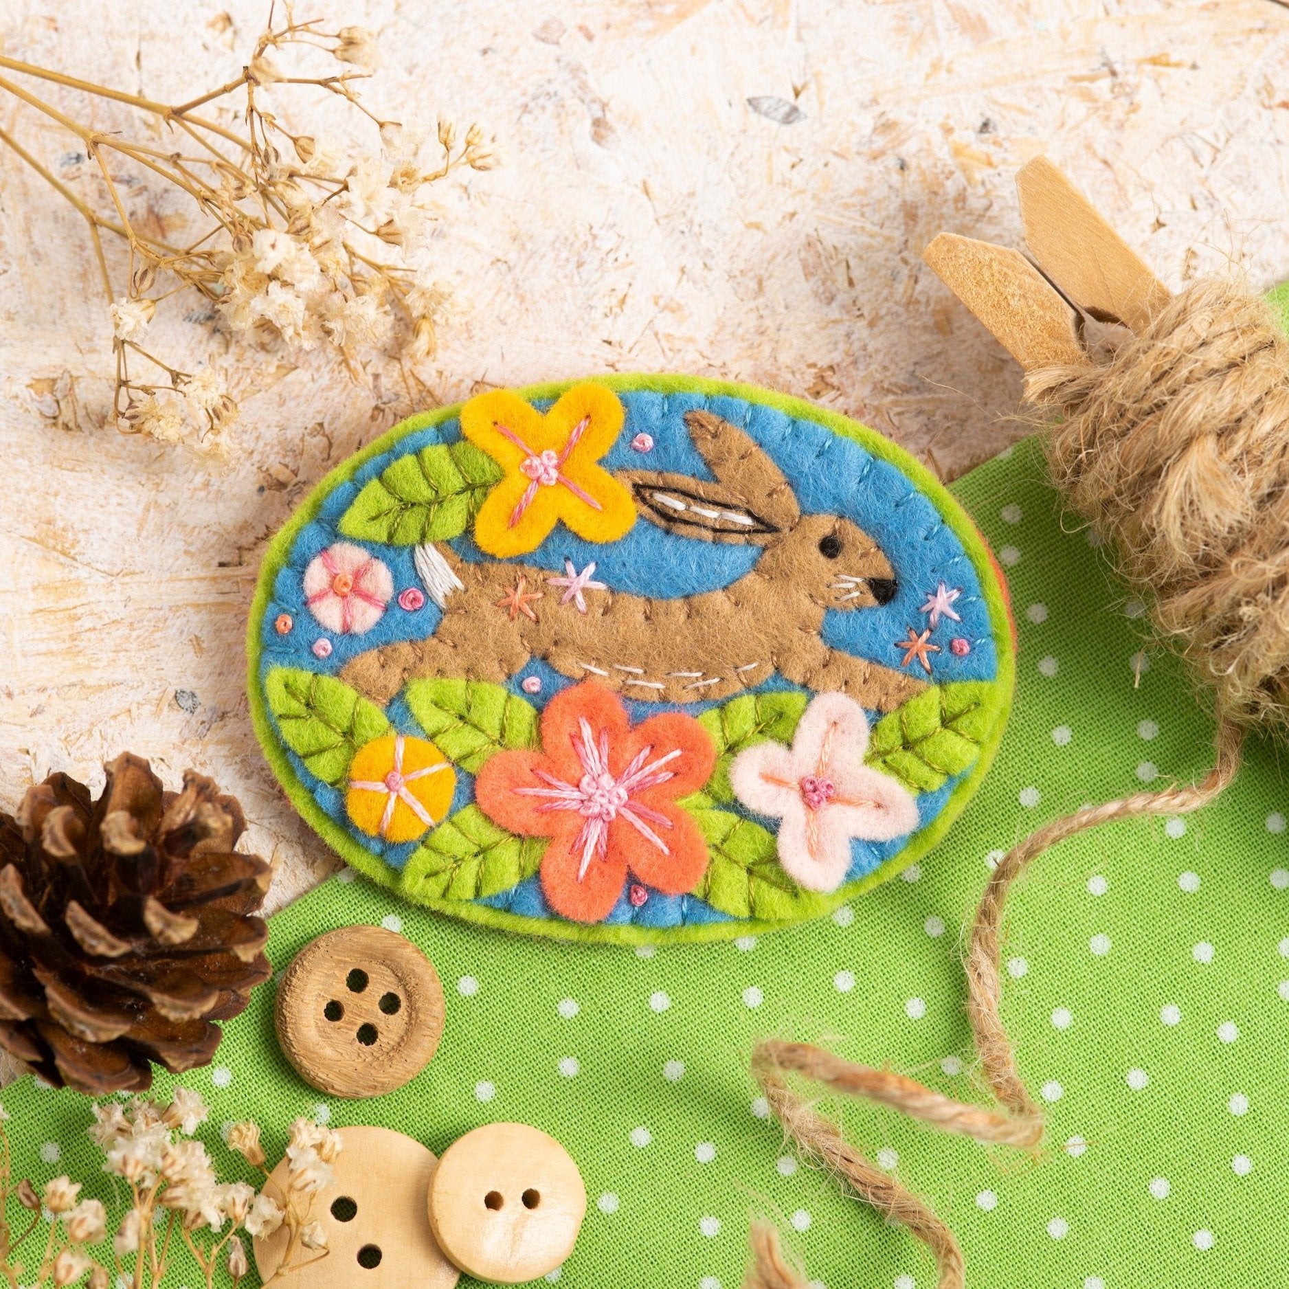
<path id="1" fill-rule="evenodd" d="M 384 712 L 333 675 L 275 666 L 264 678 L 264 696 L 282 742 L 333 788 L 344 782 L 363 744 L 389 732 Z"/>

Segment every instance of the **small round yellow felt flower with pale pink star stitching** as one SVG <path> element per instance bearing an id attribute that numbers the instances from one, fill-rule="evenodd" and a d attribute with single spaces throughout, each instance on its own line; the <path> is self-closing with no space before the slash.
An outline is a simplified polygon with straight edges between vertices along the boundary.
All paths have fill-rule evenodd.
<path id="1" fill-rule="evenodd" d="M 447 813 L 455 788 L 456 773 L 434 744 L 391 733 L 358 749 L 344 804 L 363 833 L 415 842 Z"/>

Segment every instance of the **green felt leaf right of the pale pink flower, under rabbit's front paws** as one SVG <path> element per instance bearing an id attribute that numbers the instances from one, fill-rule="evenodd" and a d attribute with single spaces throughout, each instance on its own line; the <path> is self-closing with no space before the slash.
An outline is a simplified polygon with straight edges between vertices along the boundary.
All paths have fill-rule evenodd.
<path id="1" fill-rule="evenodd" d="M 984 681 L 931 686 L 874 727 L 864 758 L 911 793 L 933 793 L 980 755 L 991 721 Z"/>

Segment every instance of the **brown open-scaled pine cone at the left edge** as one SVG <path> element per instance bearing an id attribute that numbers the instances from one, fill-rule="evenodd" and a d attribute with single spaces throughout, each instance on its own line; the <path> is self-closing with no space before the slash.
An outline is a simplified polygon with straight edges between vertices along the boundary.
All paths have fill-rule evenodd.
<path id="1" fill-rule="evenodd" d="M 272 974 L 255 916 L 272 877 L 236 855 L 241 807 L 191 771 L 168 793 L 124 753 L 103 795 L 67 775 L 0 811 L 0 1045 L 92 1096 L 209 1065 Z"/>

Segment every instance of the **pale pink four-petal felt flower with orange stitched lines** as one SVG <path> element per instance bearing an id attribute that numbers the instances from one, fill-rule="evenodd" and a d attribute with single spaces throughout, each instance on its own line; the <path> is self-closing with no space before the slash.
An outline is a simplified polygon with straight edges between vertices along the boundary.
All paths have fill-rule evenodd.
<path id="1" fill-rule="evenodd" d="M 777 819 L 779 862 L 807 891 L 835 891 L 851 867 L 851 839 L 887 842 L 918 826 L 918 806 L 889 775 L 864 764 L 869 721 L 844 693 L 820 693 L 791 748 L 761 742 L 730 767 L 735 795 Z"/>

